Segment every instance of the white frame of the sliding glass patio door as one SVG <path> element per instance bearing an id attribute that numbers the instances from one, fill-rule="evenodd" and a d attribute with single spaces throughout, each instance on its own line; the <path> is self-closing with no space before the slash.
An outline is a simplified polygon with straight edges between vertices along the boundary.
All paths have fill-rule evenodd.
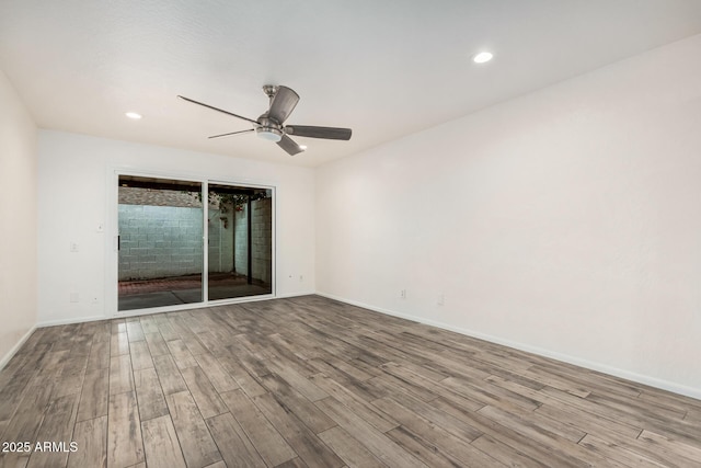
<path id="1" fill-rule="evenodd" d="M 118 252 L 118 236 L 119 236 L 119 222 L 118 222 L 118 205 L 119 205 L 119 176 L 131 175 L 141 178 L 158 178 L 169 179 L 184 182 L 198 182 L 200 183 L 202 196 L 203 196 L 203 238 L 200 248 L 203 252 L 203 273 L 202 273 L 202 298 L 200 303 L 192 304 L 179 304 L 174 306 L 151 307 L 147 309 L 134 309 L 134 310 L 118 310 L 118 277 L 119 277 L 119 252 Z M 209 300 L 209 249 L 207 246 L 209 239 L 209 226 L 208 219 L 208 197 L 209 197 L 209 184 L 216 185 L 231 185 L 231 186 L 244 186 L 251 189 L 265 189 L 272 193 L 272 219 L 271 219 L 271 294 L 262 294 L 256 296 L 234 297 L 228 299 Z M 220 306 L 227 304 L 250 303 L 255 300 L 266 300 L 277 297 L 277 191 L 274 184 L 261 183 L 257 181 L 251 181 L 246 179 L 221 179 L 207 176 L 205 174 L 192 174 L 192 173 L 179 173 L 179 172 L 164 172 L 164 171 L 149 171 L 149 170 L 135 170 L 134 168 L 119 168 L 112 167 L 107 169 L 107 222 L 106 231 L 108 236 L 105 237 L 105 316 L 107 318 L 120 318 L 120 317 L 134 317 L 143 316 L 149 313 L 159 312 L 172 312 L 177 310 L 206 308 L 212 306 Z M 250 239 L 249 239 L 250 241 Z"/>

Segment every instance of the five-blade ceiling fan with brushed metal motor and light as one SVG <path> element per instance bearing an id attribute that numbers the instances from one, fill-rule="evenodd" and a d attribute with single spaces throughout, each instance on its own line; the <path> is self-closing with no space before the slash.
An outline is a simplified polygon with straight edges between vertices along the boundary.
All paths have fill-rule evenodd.
<path id="1" fill-rule="evenodd" d="M 267 96 L 271 100 L 269 109 L 255 121 L 253 118 L 248 118 L 248 117 L 234 114 L 232 112 L 225 111 L 222 109 L 218 109 L 212 105 L 192 100 L 189 98 L 185 98 L 183 95 L 179 95 L 177 98 L 187 102 L 192 102 L 193 104 L 211 109 L 212 111 L 218 111 L 223 114 L 241 118 L 254 125 L 254 128 L 249 128 L 246 130 L 239 130 L 239 132 L 230 132 L 228 134 L 221 134 L 221 135 L 212 135 L 209 138 L 219 138 L 219 137 L 226 137 L 229 135 L 255 132 L 256 135 L 260 136 L 261 138 L 277 142 L 277 146 L 283 148 L 290 156 L 295 156 L 298 152 L 303 151 L 304 147 L 295 142 L 295 140 L 292 140 L 289 137 L 289 135 L 295 135 L 298 137 L 324 138 L 324 139 L 334 139 L 334 140 L 350 139 L 350 135 L 352 135 L 350 128 L 314 127 L 309 125 L 283 125 L 287 119 L 287 117 L 289 117 L 289 114 L 291 114 L 292 111 L 295 110 L 295 106 L 297 105 L 297 103 L 299 102 L 299 94 L 297 94 L 290 88 L 283 87 L 283 85 L 277 87 L 273 84 L 264 85 L 263 92 L 265 92 L 265 94 L 267 94 Z"/>

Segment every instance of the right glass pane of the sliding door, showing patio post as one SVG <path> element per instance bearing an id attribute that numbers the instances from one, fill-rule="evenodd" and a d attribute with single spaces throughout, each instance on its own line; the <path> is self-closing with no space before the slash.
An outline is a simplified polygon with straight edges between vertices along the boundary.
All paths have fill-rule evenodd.
<path id="1" fill-rule="evenodd" d="M 273 194 L 209 184 L 209 300 L 273 293 Z"/>

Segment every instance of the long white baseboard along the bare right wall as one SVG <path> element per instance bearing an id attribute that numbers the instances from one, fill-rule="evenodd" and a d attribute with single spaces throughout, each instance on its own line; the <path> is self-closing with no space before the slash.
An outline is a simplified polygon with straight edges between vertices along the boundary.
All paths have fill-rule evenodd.
<path id="1" fill-rule="evenodd" d="M 425 319 L 423 317 L 415 317 L 415 316 L 410 316 L 410 315 L 406 315 L 406 313 L 397 312 L 394 310 L 389 310 L 389 309 L 384 309 L 384 308 L 381 308 L 381 307 L 372 306 L 372 305 L 369 305 L 369 304 L 359 303 L 357 300 L 350 300 L 350 299 L 347 299 L 347 298 L 344 298 L 344 297 L 334 296 L 332 294 L 317 292 L 317 295 L 322 296 L 322 297 L 326 297 L 329 299 L 337 300 L 340 303 L 345 303 L 345 304 L 348 304 L 348 305 L 352 305 L 352 306 L 363 307 L 364 309 L 372 310 L 372 311 L 376 311 L 376 312 L 386 313 L 388 316 L 399 317 L 399 318 L 411 320 L 411 321 L 414 321 L 414 322 L 424 323 L 424 324 L 436 327 L 436 328 L 440 328 L 440 329 L 444 329 L 444 330 L 453 331 L 456 333 L 464 334 L 467 336 L 476 338 L 476 339 L 480 339 L 480 340 L 489 341 L 491 343 L 501 344 L 501 345 L 513 347 L 513 349 L 519 350 L 519 351 L 525 351 L 527 353 L 538 354 L 539 356 L 550 357 L 550 358 L 553 358 L 553 359 L 556 359 L 556 361 L 562 361 L 564 363 L 574 364 L 576 366 L 585 367 L 585 368 L 590 369 L 590 370 L 597 370 L 597 372 L 600 372 L 600 373 L 604 373 L 604 374 L 608 374 L 608 375 L 611 375 L 611 376 L 614 376 L 614 377 L 624 378 L 627 380 L 631 380 L 631 381 L 634 381 L 634 383 L 637 383 L 637 384 L 647 385 L 647 386 L 651 386 L 651 387 L 659 388 L 662 390 L 667 390 L 667 391 L 671 391 L 674 393 L 679 393 L 679 395 L 683 395 L 686 397 L 691 397 L 691 398 L 696 398 L 698 400 L 701 400 L 701 389 L 699 389 L 699 388 L 688 387 L 688 386 L 680 385 L 680 384 L 677 384 L 677 383 L 674 383 L 674 381 L 663 380 L 663 379 L 659 379 L 657 377 L 646 376 L 646 375 L 633 373 L 633 372 L 630 372 L 630 370 L 620 369 L 618 367 L 611 367 L 611 366 L 606 365 L 606 364 L 583 359 L 583 358 L 579 358 L 579 357 L 576 357 L 576 356 L 562 354 L 562 353 L 559 353 L 559 352 L 555 352 L 555 351 L 544 350 L 544 349 L 541 349 L 541 347 L 538 347 L 538 346 L 532 346 L 532 345 L 525 344 L 525 343 L 519 343 L 519 342 L 515 342 L 515 341 L 510 341 L 510 340 L 504 340 L 504 339 L 498 338 L 498 336 L 493 336 L 493 335 L 485 334 L 485 333 L 480 333 L 480 332 L 476 332 L 476 331 L 473 331 L 473 330 L 468 330 L 468 329 L 463 329 L 463 328 L 459 328 L 459 327 L 453 327 L 453 326 L 450 326 L 448 323 L 443 323 L 443 322 L 438 322 L 438 321 L 435 321 L 435 320 Z"/>

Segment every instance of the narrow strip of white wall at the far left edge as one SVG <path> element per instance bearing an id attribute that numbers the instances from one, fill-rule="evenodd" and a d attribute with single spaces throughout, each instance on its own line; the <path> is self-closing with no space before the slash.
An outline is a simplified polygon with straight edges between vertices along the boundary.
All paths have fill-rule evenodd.
<path id="1" fill-rule="evenodd" d="M 36 324 L 36 127 L 0 70 L 0 368 Z"/>

